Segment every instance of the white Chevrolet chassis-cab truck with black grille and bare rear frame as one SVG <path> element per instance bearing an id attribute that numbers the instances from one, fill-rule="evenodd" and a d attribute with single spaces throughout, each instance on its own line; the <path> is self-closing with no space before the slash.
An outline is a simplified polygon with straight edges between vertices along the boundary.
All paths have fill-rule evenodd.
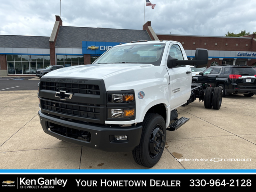
<path id="1" fill-rule="evenodd" d="M 222 90 L 192 84 L 190 65 L 206 66 L 208 50 L 188 60 L 179 42 L 136 41 L 112 47 L 93 64 L 54 70 L 40 79 L 38 112 L 44 132 L 60 140 L 110 152 L 132 151 L 154 166 L 166 130 L 189 119 L 176 108 L 196 98 L 219 109 Z M 203 109 L 202 109 L 203 110 Z"/>

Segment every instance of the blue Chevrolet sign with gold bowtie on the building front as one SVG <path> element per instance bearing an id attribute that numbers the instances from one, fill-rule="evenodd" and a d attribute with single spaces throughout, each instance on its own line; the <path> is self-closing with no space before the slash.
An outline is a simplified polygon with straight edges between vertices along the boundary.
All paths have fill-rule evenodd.
<path id="1" fill-rule="evenodd" d="M 102 55 L 108 49 L 119 44 L 120 43 L 118 42 L 82 41 L 82 53 L 92 54 L 92 55 Z"/>

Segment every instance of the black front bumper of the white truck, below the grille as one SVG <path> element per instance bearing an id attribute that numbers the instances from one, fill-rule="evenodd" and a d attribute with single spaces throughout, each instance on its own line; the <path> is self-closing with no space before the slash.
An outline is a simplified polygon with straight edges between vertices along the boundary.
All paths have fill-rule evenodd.
<path id="1" fill-rule="evenodd" d="M 38 115 L 45 133 L 80 146 L 97 148 L 109 152 L 128 152 L 134 150 L 140 144 L 142 126 L 138 124 L 135 126 L 111 127 L 81 121 L 64 120 L 45 114 L 41 110 L 38 112 Z M 57 130 L 65 130 L 67 132 L 60 134 L 58 131 L 52 131 L 54 129 L 53 127 Z M 86 134 L 84 139 L 74 137 L 77 132 L 79 134 Z M 128 140 L 125 142 L 113 140 L 115 135 L 126 135 Z"/>

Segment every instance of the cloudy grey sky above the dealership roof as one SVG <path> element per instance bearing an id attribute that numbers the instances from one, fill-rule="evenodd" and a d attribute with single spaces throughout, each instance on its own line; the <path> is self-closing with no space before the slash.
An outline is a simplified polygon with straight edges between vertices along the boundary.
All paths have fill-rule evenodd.
<path id="1" fill-rule="evenodd" d="M 256 0 L 0 0 L 0 34 L 50 36 L 55 15 L 64 26 L 142 30 L 156 34 L 225 36 L 256 32 Z M 61 5 L 61 9 L 60 9 Z"/>

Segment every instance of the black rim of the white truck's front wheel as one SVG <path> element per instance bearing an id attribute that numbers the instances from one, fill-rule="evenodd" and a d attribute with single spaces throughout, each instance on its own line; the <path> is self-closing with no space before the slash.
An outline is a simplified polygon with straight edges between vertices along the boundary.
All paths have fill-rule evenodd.
<path id="1" fill-rule="evenodd" d="M 158 154 L 164 149 L 164 132 L 160 124 L 157 124 L 150 135 L 149 140 L 149 154 L 151 158 L 156 158 Z"/>

